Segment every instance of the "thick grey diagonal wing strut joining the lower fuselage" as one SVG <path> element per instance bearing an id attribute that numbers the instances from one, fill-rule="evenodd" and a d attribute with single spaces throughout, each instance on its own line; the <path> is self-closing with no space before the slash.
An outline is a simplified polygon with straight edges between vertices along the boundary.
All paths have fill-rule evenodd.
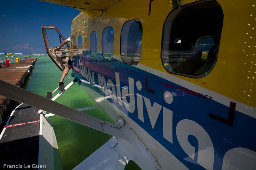
<path id="1" fill-rule="evenodd" d="M 2 80 L 0 80 L 0 94 L 112 136 L 123 138 L 125 131 L 130 129 L 122 120 L 119 120 L 116 124 L 105 122 Z"/>

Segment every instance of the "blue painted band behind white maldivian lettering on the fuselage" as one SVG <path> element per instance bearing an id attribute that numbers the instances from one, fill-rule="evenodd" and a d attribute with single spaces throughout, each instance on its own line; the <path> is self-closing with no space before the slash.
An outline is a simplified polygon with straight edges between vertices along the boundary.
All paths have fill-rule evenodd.
<path id="1" fill-rule="evenodd" d="M 215 96 L 203 96 L 207 94 L 198 94 L 191 91 L 188 88 L 180 86 L 174 82 L 165 80 L 149 72 L 143 71 L 131 65 L 125 64 L 118 60 L 105 60 L 101 54 L 97 54 L 96 57 L 91 57 L 90 52 L 84 52 L 83 57 L 72 56 L 73 73 L 78 79 L 86 80 L 81 74 L 81 68 L 86 67 L 94 72 L 94 81 L 96 85 L 99 85 L 98 74 L 104 76 L 106 82 L 108 79 L 112 80 L 116 85 L 115 72 L 120 75 L 121 93 L 124 86 L 129 86 L 128 77 L 134 79 L 134 93 L 140 93 L 146 98 L 150 99 L 151 106 L 154 102 L 159 105 L 168 108 L 173 112 L 172 128 L 173 128 L 173 142 L 170 143 L 163 137 L 163 107 L 157 118 L 154 129 L 152 129 L 149 116 L 147 114 L 145 101 L 143 101 L 144 122 L 138 118 L 137 106 L 133 113 L 129 113 L 124 107 L 124 104 L 120 106 L 116 101 L 108 98 L 116 107 L 120 108 L 126 115 L 128 115 L 134 122 L 140 125 L 141 128 L 146 130 L 149 135 L 155 138 L 160 144 L 162 144 L 169 152 L 171 152 L 176 158 L 178 158 L 189 169 L 204 169 L 203 166 L 197 163 L 197 159 L 193 160 L 182 149 L 177 135 L 176 126 L 178 122 L 184 119 L 192 120 L 198 123 L 209 134 L 213 147 L 214 147 L 214 166 L 213 169 L 221 169 L 222 161 L 225 153 L 236 147 L 248 148 L 252 151 L 256 151 L 254 130 L 256 129 L 256 119 L 245 115 L 241 112 L 235 111 L 233 126 L 229 126 L 225 123 L 219 122 L 209 117 L 209 113 L 228 119 L 229 107 L 220 104 L 215 101 Z M 145 77 L 148 79 L 148 88 L 155 91 L 155 93 L 146 90 Z M 140 81 L 142 84 L 142 90 L 139 91 L 136 88 L 136 82 Z M 78 82 L 80 85 L 88 86 L 97 93 L 105 95 L 101 90 L 92 84 L 86 84 Z M 172 93 L 173 102 L 168 104 L 164 100 L 164 92 L 169 91 Z M 210 100 L 210 97 L 212 99 Z M 206 99 L 208 98 L 208 99 Z M 130 102 L 129 97 L 126 97 Z M 135 95 L 135 104 L 136 104 Z M 188 137 L 189 143 L 198 151 L 198 141 L 193 137 Z M 198 152 L 195 156 L 197 157 Z"/>

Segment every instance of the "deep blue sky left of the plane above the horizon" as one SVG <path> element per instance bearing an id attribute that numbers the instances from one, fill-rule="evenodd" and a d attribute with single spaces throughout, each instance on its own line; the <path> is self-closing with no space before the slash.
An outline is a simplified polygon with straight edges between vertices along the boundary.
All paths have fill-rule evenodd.
<path id="1" fill-rule="evenodd" d="M 41 26 L 56 26 L 67 39 L 81 11 L 38 0 L 1 2 L 0 53 L 45 54 Z"/>

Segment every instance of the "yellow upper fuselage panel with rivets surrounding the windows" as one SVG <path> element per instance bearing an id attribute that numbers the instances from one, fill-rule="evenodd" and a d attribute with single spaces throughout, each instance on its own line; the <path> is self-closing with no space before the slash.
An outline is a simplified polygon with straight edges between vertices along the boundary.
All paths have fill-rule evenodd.
<path id="1" fill-rule="evenodd" d="M 195 1 L 184 0 L 182 5 Z M 97 50 L 101 51 L 101 35 L 107 26 L 114 30 L 114 55 L 120 57 L 120 35 L 126 21 L 138 18 L 142 23 L 142 55 L 140 64 L 176 76 L 236 101 L 256 107 L 256 7 L 254 1 L 217 1 L 223 11 L 220 47 L 217 62 L 210 73 L 202 78 L 188 78 L 168 73 L 161 62 L 161 45 L 164 21 L 174 9 L 170 1 L 122 0 L 110 6 L 89 23 L 89 16 L 80 13 L 71 27 L 72 40 L 77 32 L 87 32 L 83 48 L 90 48 L 90 33 L 97 32 Z M 149 15 L 150 11 L 150 15 Z M 205 14 L 207 15 L 207 14 Z M 200 18 L 195 18 L 200 19 Z M 210 21 L 209 21 L 210 22 Z M 203 26 L 203 25 L 202 25 Z M 190 29 L 188 25 L 188 29 Z M 207 28 L 205 28 L 207 29 Z M 83 41 L 84 41 L 83 37 Z M 77 38 L 77 37 L 76 37 Z M 175 83 L 175 82 L 174 82 Z"/>

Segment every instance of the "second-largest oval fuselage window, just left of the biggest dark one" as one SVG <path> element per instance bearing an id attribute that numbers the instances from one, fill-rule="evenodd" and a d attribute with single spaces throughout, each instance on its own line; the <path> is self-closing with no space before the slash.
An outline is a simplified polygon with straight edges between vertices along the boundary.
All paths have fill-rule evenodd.
<path id="1" fill-rule="evenodd" d="M 124 23 L 121 31 L 121 58 L 124 63 L 136 65 L 142 49 L 142 24 L 139 19 Z"/>

